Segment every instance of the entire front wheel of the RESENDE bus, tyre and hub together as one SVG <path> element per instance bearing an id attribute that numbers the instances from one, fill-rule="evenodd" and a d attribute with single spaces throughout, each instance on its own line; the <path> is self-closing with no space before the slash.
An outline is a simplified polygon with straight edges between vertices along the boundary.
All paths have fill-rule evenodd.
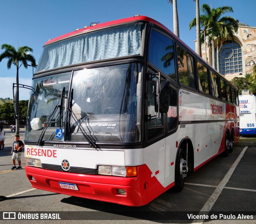
<path id="1" fill-rule="evenodd" d="M 176 158 L 175 165 L 175 187 L 177 192 L 180 192 L 184 188 L 184 179 L 187 176 L 187 161 L 184 155 L 183 149 L 180 148 Z"/>

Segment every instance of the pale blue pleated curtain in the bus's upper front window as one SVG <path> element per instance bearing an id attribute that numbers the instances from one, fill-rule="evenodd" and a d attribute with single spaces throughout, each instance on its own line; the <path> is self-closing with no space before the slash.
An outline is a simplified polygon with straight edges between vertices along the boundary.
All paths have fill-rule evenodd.
<path id="1" fill-rule="evenodd" d="M 142 23 L 90 32 L 44 47 L 38 70 L 139 55 Z"/>

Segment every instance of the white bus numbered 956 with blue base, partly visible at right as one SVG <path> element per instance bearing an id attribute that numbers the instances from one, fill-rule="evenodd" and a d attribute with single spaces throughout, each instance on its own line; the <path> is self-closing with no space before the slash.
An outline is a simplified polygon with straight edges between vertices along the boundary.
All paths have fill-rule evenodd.
<path id="1" fill-rule="evenodd" d="M 240 135 L 256 135 L 256 96 L 242 91 L 239 98 Z"/>

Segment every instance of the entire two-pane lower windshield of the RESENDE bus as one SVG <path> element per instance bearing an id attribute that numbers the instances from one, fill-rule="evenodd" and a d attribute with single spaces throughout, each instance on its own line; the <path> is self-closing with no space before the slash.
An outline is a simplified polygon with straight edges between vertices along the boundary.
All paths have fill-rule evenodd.
<path id="1" fill-rule="evenodd" d="M 71 81 L 71 73 L 34 79 L 36 91 L 29 103 L 26 139 L 38 140 L 43 126 L 50 122 L 43 141 L 84 142 L 84 134 L 100 143 L 140 141 L 141 67 L 127 63 L 81 69 L 73 71 Z M 49 117 L 60 104 L 63 87 L 62 123 L 67 116 L 66 129 L 63 127 L 66 137 L 57 139 L 59 110 L 51 121 Z"/>

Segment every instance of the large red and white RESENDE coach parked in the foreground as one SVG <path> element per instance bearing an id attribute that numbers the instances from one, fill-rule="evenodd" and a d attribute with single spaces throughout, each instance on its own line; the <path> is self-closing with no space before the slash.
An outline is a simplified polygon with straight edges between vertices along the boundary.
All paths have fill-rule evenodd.
<path id="1" fill-rule="evenodd" d="M 146 16 L 49 40 L 32 86 L 34 188 L 142 206 L 239 138 L 237 89 Z"/>

